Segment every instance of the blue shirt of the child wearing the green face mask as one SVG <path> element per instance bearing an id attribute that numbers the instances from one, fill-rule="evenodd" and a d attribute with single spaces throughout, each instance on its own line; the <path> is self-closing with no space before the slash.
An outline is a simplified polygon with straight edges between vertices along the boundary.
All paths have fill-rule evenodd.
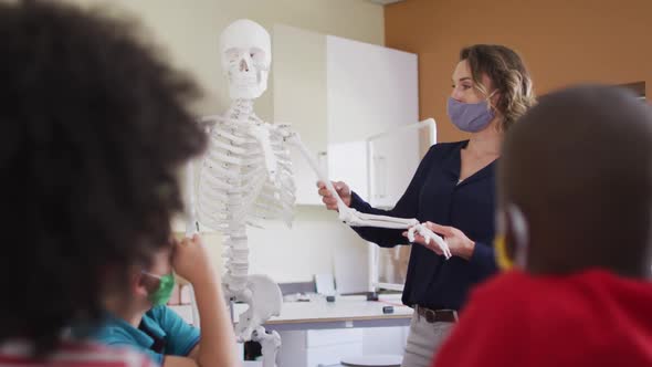
<path id="1" fill-rule="evenodd" d="M 138 328 L 119 317 L 108 316 L 93 338 L 105 345 L 134 347 L 162 366 L 165 355 L 188 356 L 199 343 L 199 329 L 170 308 L 156 306 L 143 315 Z"/>

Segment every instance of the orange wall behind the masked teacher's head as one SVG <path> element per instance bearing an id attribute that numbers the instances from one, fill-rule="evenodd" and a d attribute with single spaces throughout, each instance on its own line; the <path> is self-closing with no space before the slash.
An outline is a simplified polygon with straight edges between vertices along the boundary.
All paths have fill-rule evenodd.
<path id="1" fill-rule="evenodd" d="M 525 59 L 538 95 L 568 84 L 644 81 L 652 95 L 652 0 L 407 0 L 385 7 L 386 45 L 419 54 L 420 114 L 439 140 L 461 48 L 499 43 Z"/>

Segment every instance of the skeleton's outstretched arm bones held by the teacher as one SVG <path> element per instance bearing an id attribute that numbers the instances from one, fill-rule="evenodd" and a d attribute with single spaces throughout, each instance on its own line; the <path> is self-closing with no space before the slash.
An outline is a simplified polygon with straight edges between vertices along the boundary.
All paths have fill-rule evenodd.
<path id="1" fill-rule="evenodd" d="M 408 240 L 410 242 L 414 241 L 414 232 L 419 233 L 425 239 L 425 243 L 429 243 L 433 240 L 440 250 L 443 252 L 446 259 L 451 258 L 451 250 L 445 241 L 438 235 L 437 233 L 429 230 L 425 226 L 419 223 L 417 219 L 407 219 L 407 218 L 393 218 L 387 216 L 377 216 L 377 214 L 368 214 L 361 213 L 353 208 L 349 208 L 339 195 L 337 190 L 333 187 L 333 184 L 326 177 L 317 160 L 313 157 L 311 151 L 306 148 L 306 146 L 301 140 L 298 134 L 294 132 L 287 132 L 285 134 L 285 139 L 301 151 L 302 156 L 308 161 L 313 170 L 317 174 L 317 177 L 320 181 L 326 185 L 326 188 L 333 195 L 333 197 L 337 200 L 337 210 L 339 211 L 339 219 L 348 226 L 353 227 L 378 227 L 378 228 L 389 228 L 389 229 L 407 229 L 408 230 Z"/>

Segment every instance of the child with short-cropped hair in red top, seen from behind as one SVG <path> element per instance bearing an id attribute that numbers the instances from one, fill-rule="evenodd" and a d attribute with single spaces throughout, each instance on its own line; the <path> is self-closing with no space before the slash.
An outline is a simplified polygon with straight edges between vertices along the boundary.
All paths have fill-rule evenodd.
<path id="1" fill-rule="evenodd" d="M 507 134 L 496 254 L 434 366 L 652 366 L 652 109 L 541 97 Z"/>

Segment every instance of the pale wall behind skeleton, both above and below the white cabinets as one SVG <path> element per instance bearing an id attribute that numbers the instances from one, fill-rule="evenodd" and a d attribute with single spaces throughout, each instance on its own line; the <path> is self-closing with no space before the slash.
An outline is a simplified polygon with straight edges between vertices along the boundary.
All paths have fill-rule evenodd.
<path id="1" fill-rule="evenodd" d="M 139 18 L 172 63 L 200 82 L 206 96 L 196 106 L 198 115 L 221 113 L 230 103 L 217 48 L 221 30 L 233 20 L 249 18 L 270 32 L 275 23 L 283 23 L 375 44 L 382 44 L 385 36 L 382 7 L 365 0 L 69 1 Z M 274 115 L 272 91 L 270 84 L 256 102 L 256 114 L 264 119 Z M 270 274 L 277 282 L 309 281 L 315 273 L 333 272 L 335 253 L 348 252 L 360 259 L 360 273 L 366 276 L 366 243 L 334 212 L 298 207 L 292 230 L 281 223 L 269 226 L 265 231 L 250 231 L 252 273 Z M 208 241 L 215 250 L 213 256 L 219 256 L 219 235 Z"/>

